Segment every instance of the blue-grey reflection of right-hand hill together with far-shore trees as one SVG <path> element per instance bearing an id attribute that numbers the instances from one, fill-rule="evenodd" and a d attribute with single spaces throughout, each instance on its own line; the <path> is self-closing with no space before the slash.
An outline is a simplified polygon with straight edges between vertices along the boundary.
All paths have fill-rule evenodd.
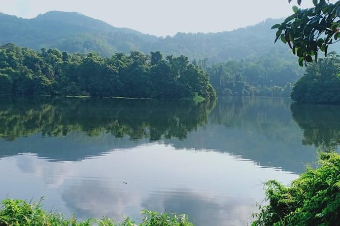
<path id="1" fill-rule="evenodd" d="M 305 164 L 316 161 L 317 154 L 315 147 L 301 145 L 301 128 L 292 119 L 290 104 L 289 98 L 220 98 L 205 130 L 171 143 L 176 148 L 212 149 L 301 173 Z"/>

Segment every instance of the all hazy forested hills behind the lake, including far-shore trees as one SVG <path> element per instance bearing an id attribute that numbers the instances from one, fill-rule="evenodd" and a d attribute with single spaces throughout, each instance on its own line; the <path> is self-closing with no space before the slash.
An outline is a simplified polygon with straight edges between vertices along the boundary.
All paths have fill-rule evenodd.
<path id="1" fill-rule="evenodd" d="M 292 84 L 303 74 L 291 51 L 283 43 L 274 44 L 271 38 L 275 32 L 270 27 L 280 21 L 276 19 L 233 31 L 157 37 L 117 28 L 79 13 L 52 11 L 32 19 L 0 14 L 0 18 L 3 45 L 96 52 L 104 57 L 130 51 L 185 55 L 210 73 L 219 95 L 289 96 Z"/>

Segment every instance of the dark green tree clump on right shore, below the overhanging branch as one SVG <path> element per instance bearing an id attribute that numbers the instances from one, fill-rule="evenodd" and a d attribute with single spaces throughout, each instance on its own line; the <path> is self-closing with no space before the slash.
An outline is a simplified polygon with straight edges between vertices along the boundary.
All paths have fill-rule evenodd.
<path id="1" fill-rule="evenodd" d="M 298 103 L 340 104 L 340 56 L 332 52 L 310 63 L 294 85 L 291 98 Z"/>

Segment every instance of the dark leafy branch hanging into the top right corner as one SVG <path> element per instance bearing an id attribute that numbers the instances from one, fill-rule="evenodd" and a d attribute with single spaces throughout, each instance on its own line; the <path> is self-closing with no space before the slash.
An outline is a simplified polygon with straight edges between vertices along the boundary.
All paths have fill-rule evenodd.
<path id="1" fill-rule="evenodd" d="M 313 58 L 317 62 L 319 51 L 327 56 L 328 46 L 340 41 L 340 1 L 332 2 L 313 0 L 314 7 L 310 9 L 293 6 L 294 14 L 271 27 L 278 29 L 275 42 L 280 39 L 288 44 L 293 54 L 298 56 L 300 66 L 307 66 Z M 301 0 L 297 3 L 300 5 Z"/>

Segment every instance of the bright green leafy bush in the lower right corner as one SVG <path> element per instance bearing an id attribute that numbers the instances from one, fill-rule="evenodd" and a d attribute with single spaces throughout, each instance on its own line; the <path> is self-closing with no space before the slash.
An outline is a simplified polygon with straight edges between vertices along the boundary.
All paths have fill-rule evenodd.
<path id="1" fill-rule="evenodd" d="M 265 183 L 268 205 L 252 225 L 340 225 L 340 155 L 319 152 L 317 169 L 307 171 L 286 187 L 276 180 Z"/>

